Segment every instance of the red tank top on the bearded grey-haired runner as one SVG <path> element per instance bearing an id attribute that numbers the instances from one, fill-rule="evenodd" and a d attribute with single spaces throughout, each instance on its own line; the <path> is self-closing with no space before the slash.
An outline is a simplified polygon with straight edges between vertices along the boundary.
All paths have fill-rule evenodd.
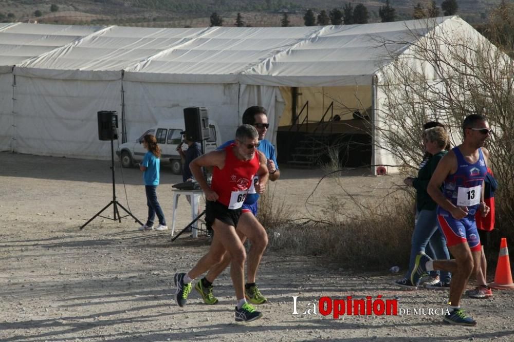
<path id="1" fill-rule="evenodd" d="M 211 189 L 218 194 L 218 202 L 229 209 L 237 209 L 243 205 L 253 176 L 259 169 L 259 156 L 255 151 L 252 160 L 237 159 L 232 152 L 235 144 L 225 147 L 225 166 L 219 169 L 214 166 Z"/>

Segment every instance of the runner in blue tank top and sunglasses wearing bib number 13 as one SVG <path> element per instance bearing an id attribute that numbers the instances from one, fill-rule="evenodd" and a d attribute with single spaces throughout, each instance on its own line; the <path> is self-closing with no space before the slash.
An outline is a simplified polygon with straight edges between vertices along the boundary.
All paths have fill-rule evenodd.
<path id="1" fill-rule="evenodd" d="M 481 244 L 476 230 L 475 213 L 487 216 L 489 206 L 484 201 L 484 178 L 489 152 L 483 147 L 492 134 L 482 115 L 469 115 L 463 123 L 464 140 L 437 164 L 428 183 L 427 192 L 438 204 L 439 230 L 446 237 L 448 250 L 455 259 L 432 260 L 425 253 L 416 256 L 411 282 L 432 270 L 452 273 L 448 313 L 449 324 L 475 326 L 476 321 L 461 309 L 461 297 L 473 266 L 480 268 Z M 440 190 L 444 184 L 443 191 Z"/>

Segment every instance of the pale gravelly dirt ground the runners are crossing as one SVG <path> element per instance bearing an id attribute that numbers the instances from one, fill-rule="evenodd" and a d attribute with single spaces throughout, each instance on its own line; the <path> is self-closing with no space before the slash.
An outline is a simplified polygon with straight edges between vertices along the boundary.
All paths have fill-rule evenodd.
<path id="1" fill-rule="evenodd" d="M 200 302 L 193 290 L 184 308 L 174 300 L 173 274 L 189 270 L 208 249 L 205 237 L 171 232 L 138 232 L 130 218 L 121 223 L 96 218 L 79 226 L 112 199 L 110 162 L 0 153 L 0 340 L 2 341 L 170 341 L 170 340 L 503 340 L 514 339 L 514 291 L 495 291 L 492 299 L 464 299 L 478 325 L 444 325 L 446 291 L 400 291 L 401 277 L 347 271 L 313 256 L 267 252 L 258 283 L 269 303 L 263 318 L 235 324 L 235 298 L 226 271 L 215 282 L 215 306 Z M 340 196 L 327 180 L 305 205 L 321 170 L 282 169 L 273 184 L 274 200 L 305 216 Z M 117 197 L 140 220 L 146 206 L 141 174 L 116 168 Z M 161 173 L 158 196 L 171 225 L 171 184 L 180 176 Z M 399 184 L 394 177 L 341 178 L 347 191 L 376 197 Z M 180 198 L 177 228 L 189 221 Z M 111 216 L 112 211 L 107 212 Z M 377 258 L 380 256 L 377 255 Z M 403 272 L 400 271 L 400 272 Z M 403 314 L 355 316 L 304 313 L 323 296 L 333 299 L 396 299 Z M 297 312 L 293 314 L 293 296 Z M 409 309 L 409 314 L 407 314 Z M 439 309 L 430 314 L 429 309 Z M 416 310 L 416 312 L 414 312 Z M 401 311 L 401 310 L 400 310 Z"/>

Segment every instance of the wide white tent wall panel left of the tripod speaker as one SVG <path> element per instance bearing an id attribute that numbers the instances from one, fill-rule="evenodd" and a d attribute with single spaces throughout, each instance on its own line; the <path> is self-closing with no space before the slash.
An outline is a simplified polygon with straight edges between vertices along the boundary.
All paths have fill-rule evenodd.
<path id="1" fill-rule="evenodd" d="M 121 82 L 63 81 L 16 76 L 16 151 L 38 155 L 108 159 L 98 139 L 97 111 L 121 112 Z"/>

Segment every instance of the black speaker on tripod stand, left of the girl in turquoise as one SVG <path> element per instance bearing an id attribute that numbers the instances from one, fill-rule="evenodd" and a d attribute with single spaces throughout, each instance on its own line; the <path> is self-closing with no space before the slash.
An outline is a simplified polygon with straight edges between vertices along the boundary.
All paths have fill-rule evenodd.
<path id="1" fill-rule="evenodd" d="M 118 139 L 118 114 L 116 111 L 107 111 L 102 110 L 97 112 L 98 118 L 98 139 L 102 141 L 111 141 L 111 170 L 113 175 L 113 200 L 109 202 L 106 206 L 102 208 L 95 216 L 91 217 L 86 223 L 84 223 L 80 229 L 82 230 L 89 222 L 93 221 L 96 217 L 102 217 L 108 220 L 119 221 L 121 223 L 121 219 L 127 216 L 131 216 L 136 220 L 139 224 L 143 225 L 141 221 L 139 221 L 131 212 L 125 209 L 123 205 L 121 205 L 116 200 L 116 182 L 114 177 L 114 139 Z M 113 205 L 114 218 L 105 217 L 100 214 L 103 213 L 109 206 Z M 122 208 L 126 215 L 121 216 L 118 210 L 118 207 Z"/>

